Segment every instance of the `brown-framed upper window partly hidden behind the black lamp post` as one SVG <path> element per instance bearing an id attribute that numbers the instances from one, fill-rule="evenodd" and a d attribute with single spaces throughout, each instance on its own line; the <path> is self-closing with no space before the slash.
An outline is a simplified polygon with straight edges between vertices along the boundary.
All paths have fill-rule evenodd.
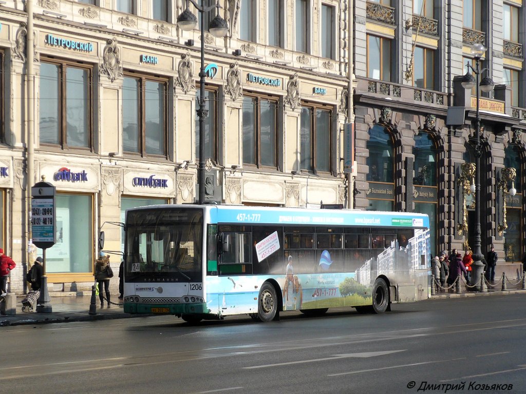
<path id="1" fill-rule="evenodd" d="M 199 107 L 199 89 L 196 89 L 196 107 Z M 205 118 L 205 160 L 211 158 L 217 162 L 217 88 L 207 86 L 205 90 L 205 109 L 208 115 Z M 196 140 L 196 162 L 199 161 L 199 118 L 195 121 L 195 140 Z"/>

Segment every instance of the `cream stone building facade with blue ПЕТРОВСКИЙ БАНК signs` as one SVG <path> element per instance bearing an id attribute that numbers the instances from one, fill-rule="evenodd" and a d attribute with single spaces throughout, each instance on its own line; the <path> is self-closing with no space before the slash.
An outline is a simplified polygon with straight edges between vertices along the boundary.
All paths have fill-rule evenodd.
<path id="1" fill-rule="evenodd" d="M 98 232 L 105 250 L 122 251 L 115 223 L 127 208 L 196 200 L 201 39 L 206 200 L 345 203 L 345 3 L 220 5 L 225 38 L 179 29 L 183 1 L 34 0 L 31 15 L 2 2 L 0 246 L 18 262 L 11 292 L 26 291 L 42 253 L 28 225 L 42 179 L 56 188 L 56 244 L 46 250 L 54 291 L 90 288 Z M 216 13 L 190 8 L 205 25 Z M 114 270 L 120 258 L 110 257 Z"/>

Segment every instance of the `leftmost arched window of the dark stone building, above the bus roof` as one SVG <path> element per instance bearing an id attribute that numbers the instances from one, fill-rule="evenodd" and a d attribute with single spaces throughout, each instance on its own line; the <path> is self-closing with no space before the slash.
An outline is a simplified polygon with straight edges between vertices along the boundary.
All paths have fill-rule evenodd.
<path id="1" fill-rule="evenodd" d="M 375 125 L 369 129 L 369 210 L 393 211 L 395 209 L 395 144 L 386 127 Z"/>

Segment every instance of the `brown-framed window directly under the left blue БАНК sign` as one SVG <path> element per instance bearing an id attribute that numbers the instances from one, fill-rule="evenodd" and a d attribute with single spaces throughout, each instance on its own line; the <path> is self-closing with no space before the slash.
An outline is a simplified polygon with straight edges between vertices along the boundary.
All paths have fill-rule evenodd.
<path id="1" fill-rule="evenodd" d="M 168 80 L 126 73 L 123 80 L 123 149 L 166 155 Z"/>

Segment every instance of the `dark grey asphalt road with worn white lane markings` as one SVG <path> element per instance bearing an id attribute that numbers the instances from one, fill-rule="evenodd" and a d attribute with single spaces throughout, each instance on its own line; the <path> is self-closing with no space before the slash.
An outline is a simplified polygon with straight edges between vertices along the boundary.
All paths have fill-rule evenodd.
<path id="1" fill-rule="evenodd" d="M 4 327 L 0 393 L 526 393 L 525 303 L 510 294 L 267 324 L 157 316 Z"/>

